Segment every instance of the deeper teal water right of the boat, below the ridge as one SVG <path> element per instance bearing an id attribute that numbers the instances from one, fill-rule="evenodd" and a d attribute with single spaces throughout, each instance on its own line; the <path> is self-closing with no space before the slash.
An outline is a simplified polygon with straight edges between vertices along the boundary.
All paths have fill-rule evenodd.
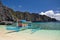
<path id="1" fill-rule="evenodd" d="M 60 22 L 35 22 L 31 24 L 33 29 L 60 30 Z"/>

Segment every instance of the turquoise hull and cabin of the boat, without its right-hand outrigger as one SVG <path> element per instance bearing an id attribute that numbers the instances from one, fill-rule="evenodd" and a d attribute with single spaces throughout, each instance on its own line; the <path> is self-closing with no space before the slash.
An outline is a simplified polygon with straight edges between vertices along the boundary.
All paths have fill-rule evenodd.
<path id="1" fill-rule="evenodd" d="M 11 30 L 12 32 L 19 32 L 29 27 L 31 27 L 31 22 L 26 21 L 26 20 L 19 20 L 13 23 L 12 25 L 7 25 L 6 29 Z M 8 33 L 11 33 L 11 32 L 8 32 Z"/>

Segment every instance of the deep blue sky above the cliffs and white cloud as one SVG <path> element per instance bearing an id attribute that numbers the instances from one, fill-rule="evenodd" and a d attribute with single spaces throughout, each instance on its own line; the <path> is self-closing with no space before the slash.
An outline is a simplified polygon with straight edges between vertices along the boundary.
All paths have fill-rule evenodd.
<path id="1" fill-rule="evenodd" d="M 3 4 L 15 11 L 44 12 L 60 10 L 60 0 L 2 0 Z"/>

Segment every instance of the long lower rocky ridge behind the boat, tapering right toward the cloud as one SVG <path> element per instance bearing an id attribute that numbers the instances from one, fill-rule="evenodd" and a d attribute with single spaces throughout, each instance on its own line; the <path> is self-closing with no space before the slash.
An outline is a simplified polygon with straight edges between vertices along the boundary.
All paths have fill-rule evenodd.
<path id="1" fill-rule="evenodd" d="M 55 22 L 55 18 L 50 18 L 46 15 L 39 15 L 38 13 L 16 12 L 16 17 L 20 20 L 27 20 L 32 22 Z"/>

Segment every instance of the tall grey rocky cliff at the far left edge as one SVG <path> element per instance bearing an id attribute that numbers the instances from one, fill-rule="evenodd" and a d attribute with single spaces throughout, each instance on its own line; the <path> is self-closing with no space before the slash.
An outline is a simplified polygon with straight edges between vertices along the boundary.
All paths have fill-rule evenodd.
<path id="1" fill-rule="evenodd" d="M 13 21 L 12 14 L 8 7 L 0 2 L 0 21 Z"/>

